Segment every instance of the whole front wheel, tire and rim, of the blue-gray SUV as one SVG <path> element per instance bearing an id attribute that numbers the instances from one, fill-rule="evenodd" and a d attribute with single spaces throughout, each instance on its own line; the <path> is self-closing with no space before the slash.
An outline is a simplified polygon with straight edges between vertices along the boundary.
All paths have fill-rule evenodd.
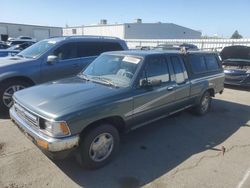
<path id="1" fill-rule="evenodd" d="M 8 112 L 13 105 L 12 96 L 16 91 L 22 90 L 30 84 L 18 80 L 8 81 L 0 84 L 0 110 L 4 113 Z"/>

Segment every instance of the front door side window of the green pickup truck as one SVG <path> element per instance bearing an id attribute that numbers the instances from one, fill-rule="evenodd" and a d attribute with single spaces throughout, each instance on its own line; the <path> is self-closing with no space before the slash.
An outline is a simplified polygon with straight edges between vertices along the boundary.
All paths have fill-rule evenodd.
<path id="1" fill-rule="evenodd" d="M 148 81 L 161 80 L 162 82 L 169 81 L 168 65 L 163 57 L 151 57 L 148 59 L 145 66 L 145 76 Z"/>

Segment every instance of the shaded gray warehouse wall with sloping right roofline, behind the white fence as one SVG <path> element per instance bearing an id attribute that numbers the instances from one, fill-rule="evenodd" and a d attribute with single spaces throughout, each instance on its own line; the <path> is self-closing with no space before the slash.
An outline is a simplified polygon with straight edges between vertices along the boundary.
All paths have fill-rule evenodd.
<path id="1" fill-rule="evenodd" d="M 200 39 L 201 32 L 172 23 L 125 24 L 125 39 Z"/>

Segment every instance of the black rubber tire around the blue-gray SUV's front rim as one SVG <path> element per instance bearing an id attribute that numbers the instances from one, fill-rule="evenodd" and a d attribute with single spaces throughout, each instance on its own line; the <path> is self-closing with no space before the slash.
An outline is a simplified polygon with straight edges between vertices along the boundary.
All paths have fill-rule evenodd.
<path id="1" fill-rule="evenodd" d="M 2 113 L 8 113 L 9 111 L 10 107 L 6 106 L 6 100 L 4 101 L 3 97 L 4 97 L 4 93 L 12 86 L 22 86 L 20 87 L 20 90 L 21 90 L 21 89 L 31 86 L 31 84 L 28 82 L 21 81 L 21 80 L 9 80 L 9 81 L 0 83 L 0 111 Z"/>

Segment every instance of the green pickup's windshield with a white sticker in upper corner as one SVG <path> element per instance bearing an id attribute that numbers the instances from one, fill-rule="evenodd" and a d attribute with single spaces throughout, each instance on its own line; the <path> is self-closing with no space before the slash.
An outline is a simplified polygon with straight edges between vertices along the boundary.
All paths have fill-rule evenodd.
<path id="1" fill-rule="evenodd" d="M 103 54 L 94 60 L 80 76 L 108 85 L 128 87 L 141 61 L 141 57 Z"/>

